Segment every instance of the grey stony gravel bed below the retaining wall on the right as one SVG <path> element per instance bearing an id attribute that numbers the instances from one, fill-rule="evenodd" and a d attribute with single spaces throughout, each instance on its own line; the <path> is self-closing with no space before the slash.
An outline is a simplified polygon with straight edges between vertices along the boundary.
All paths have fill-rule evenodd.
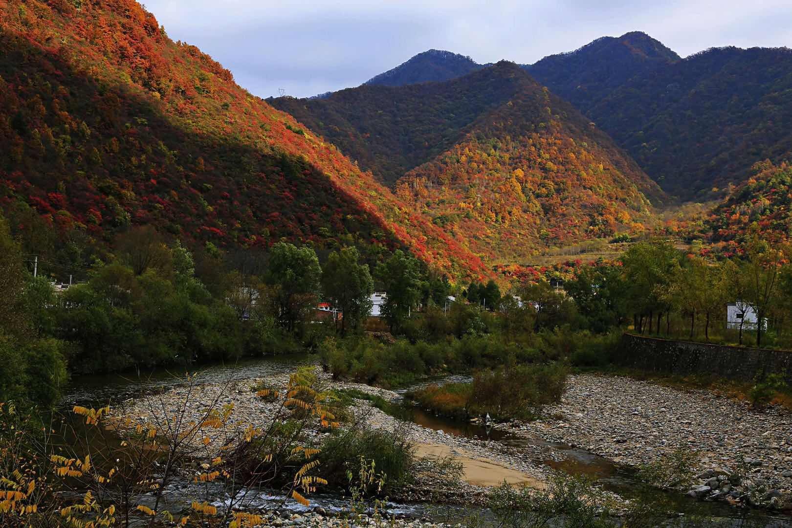
<path id="1" fill-rule="evenodd" d="M 792 507 L 792 414 L 782 408 L 760 412 L 709 390 L 581 374 L 541 420 L 506 428 L 633 466 L 683 450 L 695 454 L 691 496 Z"/>

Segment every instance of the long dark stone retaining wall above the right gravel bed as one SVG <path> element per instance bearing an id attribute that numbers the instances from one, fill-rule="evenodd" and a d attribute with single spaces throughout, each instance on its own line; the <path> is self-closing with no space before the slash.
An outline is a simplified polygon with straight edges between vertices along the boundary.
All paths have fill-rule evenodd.
<path id="1" fill-rule="evenodd" d="M 750 382 L 756 374 L 784 374 L 792 383 L 792 351 L 728 347 L 624 334 L 615 363 L 665 374 L 711 374 Z"/>

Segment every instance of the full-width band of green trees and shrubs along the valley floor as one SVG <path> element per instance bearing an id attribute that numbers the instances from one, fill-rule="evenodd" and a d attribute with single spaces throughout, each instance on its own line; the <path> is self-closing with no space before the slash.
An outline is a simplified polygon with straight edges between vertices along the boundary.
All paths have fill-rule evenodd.
<path id="1" fill-rule="evenodd" d="M 350 246 L 320 259 L 308 245 L 278 242 L 267 253 L 232 254 L 139 227 L 55 294 L 42 276 L 48 264 L 32 276 L 21 245 L 0 225 L 2 288 L 11 300 L 0 313 L 0 347 L 17 366 L 0 375 L 3 401 L 52 405 L 69 371 L 290 351 L 318 351 L 335 378 L 400 386 L 512 364 L 605 368 L 624 329 L 792 343 L 790 252 L 756 235 L 729 260 L 638 242 L 615 262 L 573 264 L 563 277 L 537 272 L 501 289 L 492 280 L 452 284 L 401 250 L 366 261 Z M 380 321 L 390 332 L 365 331 L 375 288 L 387 291 Z M 335 311 L 316 310 L 322 300 Z M 730 301 L 745 317 L 726 328 Z M 749 312 L 766 325 L 752 324 Z"/>

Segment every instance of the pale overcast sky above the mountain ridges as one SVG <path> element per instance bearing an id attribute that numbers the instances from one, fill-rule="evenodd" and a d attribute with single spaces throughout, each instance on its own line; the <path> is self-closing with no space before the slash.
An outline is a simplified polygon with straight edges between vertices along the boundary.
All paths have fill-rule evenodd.
<path id="1" fill-rule="evenodd" d="M 646 6 L 642 4 L 646 3 Z M 173 40 L 195 44 L 261 97 L 360 85 L 430 48 L 534 63 L 600 36 L 649 33 L 682 56 L 792 47 L 792 0 L 148 0 Z"/>

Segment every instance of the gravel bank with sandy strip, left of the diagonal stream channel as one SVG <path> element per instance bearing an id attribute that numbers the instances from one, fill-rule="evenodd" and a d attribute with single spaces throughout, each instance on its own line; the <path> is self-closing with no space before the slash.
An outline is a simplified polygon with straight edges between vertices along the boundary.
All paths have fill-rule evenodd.
<path id="1" fill-rule="evenodd" d="M 336 390 L 356 389 L 374 394 L 388 401 L 398 401 L 401 395 L 390 390 L 346 382 L 333 382 L 329 376 L 317 369 L 318 383 Z M 264 382 L 266 386 L 280 391 L 280 397 L 268 401 L 258 397 L 253 387 Z M 210 417 L 209 409 L 223 413 L 228 409 L 223 427 L 204 427 L 200 432 L 188 435 L 188 450 L 195 456 L 214 458 L 224 446 L 238 443 L 243 432 L 253 425 L 264 427 L 272 420 L 284 419 L 289 410 L 284 408 L 284 392 L 288 382 L 287 374 L 273 374 L 266 378 L 239 379 L 223 383 L 185 383 L 172 387 L 162 393 L 152 393 L 124 402 L 114 411 L 116 417 L 131 420 L 131 425 L 153 426 L 158 435 L 175 437 L 184 435 L 195 424 Z M 532 450 L 515 450 L 502 446 L 493 440 L 465 438 L 447 434 L 417 424 L 405 423 L 393 416 L 372 407 L 369 401 L 355 400 L 348 409 L 353 421 L 363 421 L 368 427 L 388 431 L 398 430 L 406 435 L 416 447 L 421 458 L 454 458 L 461 463 L 461 481 L 449 487 L 447 480 L 436 478 L 431 472 L 422 474 L 416 484 L 391 497 L 401 501 L 425 501 L 483 504 L 487 487 L 508 481 L 512 484 L 527 484 L 543 487 L 548 468 L 539 462 L 547 456 L 544 448 L 536 446 Z M 308 435 L 327 435 L 327 432 L 313 429 Z"/>

